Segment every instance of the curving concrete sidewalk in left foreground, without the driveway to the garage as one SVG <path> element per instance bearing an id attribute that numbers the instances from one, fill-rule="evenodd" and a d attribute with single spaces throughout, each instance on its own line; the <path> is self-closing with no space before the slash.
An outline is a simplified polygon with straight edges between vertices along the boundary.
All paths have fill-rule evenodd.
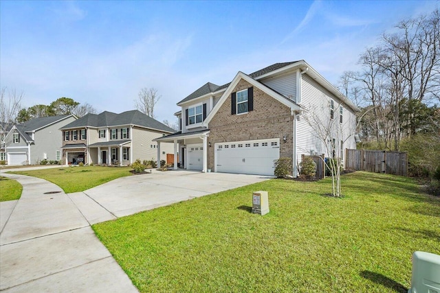
<path id="1" fill-rule="evenodd" d="M 0 202 L 2 292 L 137 292 L 60 187 L 1 175 L 23 185 L 19 200 Z"/>

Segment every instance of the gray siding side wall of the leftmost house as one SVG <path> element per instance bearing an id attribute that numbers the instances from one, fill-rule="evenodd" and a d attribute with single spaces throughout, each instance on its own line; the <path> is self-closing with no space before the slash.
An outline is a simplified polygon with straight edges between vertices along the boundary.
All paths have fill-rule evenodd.
<path id="1" fill-rule="evenodd" d="M 63 132 L 59 129 L 75 120 L 76 119 L 71 116 L 62 121 L 58 121 L 55 124 L 37 130 L 34 134 L 35 143 L 30 147 L 30 163 L 39 163 L 44 159 L 44 154 L 47 154 L 48 161 L 54 161 L 56 159 L 57 150 L 63 154 L 63 151 L 61 150 L 61 147 L 63 146 Z"/>

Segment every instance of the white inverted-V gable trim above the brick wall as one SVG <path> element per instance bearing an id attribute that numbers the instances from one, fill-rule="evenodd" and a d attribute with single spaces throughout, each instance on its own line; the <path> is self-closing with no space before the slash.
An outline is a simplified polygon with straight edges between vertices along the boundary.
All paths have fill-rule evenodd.
<path id="1" fill-rule="evenodd" d="M 217 102 L 217 104 L 215 104 L 214 108 L 212 108 L 212 111 L 208 114 L 205 121 L 202 122 L 202 124 L 201 124 L 202 127 L 208 127 L 208 124 L 211 121 L 212 117 L 214 117 L 214 115 L 219 111 L 220 107 L 223 105 L 225 100 L 228 99 L 228 97 L 230 96 L 230 94 L 234 90 L 235 86 L 242 79 L 249 82 L 250 84 L 252 84 L 252 86 L 255 86 L 256 88 L 260 89 L 261 91 L 263 91 L 267 95 L 270 95 L 270 97 L 273 97 L 278 102 L 281 102 L 281 104 L 284 104 L 285 106 L 291 108 L 292 111 L 299 111 L 300 110 L 300 106 L 298 106 L 294 101 L 292 101 L 292 99 L 289 99 L 288 97 L 285 97 L 284 95 L 281 95 L 280 93 L 277 93 L 276 91 L 274 91 L 273 89 L 270 89 L 270 87 L 266 86 L 265 84 L 263 84 L 259 81 L 256 81 L 253 78 L 251 78 L 249 75 L 246 75 L 245 73 L 239 71 L 239 73 L 237 73 L 235 75 L 234 80 L 232 80 L 232 82 L 230 83 L 230 85 L 228 86 L 226 91 L 223 93 L 223 95 L 221 95 L 219 102 Z"/>

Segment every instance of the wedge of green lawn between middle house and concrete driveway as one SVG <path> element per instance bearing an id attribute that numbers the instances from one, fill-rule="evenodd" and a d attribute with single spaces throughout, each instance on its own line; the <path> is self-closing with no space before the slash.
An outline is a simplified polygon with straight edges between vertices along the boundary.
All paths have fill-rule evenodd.
<path id="1" fill-rule="evenodd" d="M 14 174 L 43 178 L 61 187 L 66 194 L 107 183 L 116 178 L 130 176 L 130 167 L 60 167 L 31 171 L 11 172 Z"/>

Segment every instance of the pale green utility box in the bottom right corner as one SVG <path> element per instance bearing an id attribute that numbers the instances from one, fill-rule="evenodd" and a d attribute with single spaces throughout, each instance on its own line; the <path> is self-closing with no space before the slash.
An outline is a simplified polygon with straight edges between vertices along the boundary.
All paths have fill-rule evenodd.
<path id="1" fill-rule="evenodd" d="M 412 254 L 411 288 L 408 293 L 440 293 L 440 255 Z"/>

